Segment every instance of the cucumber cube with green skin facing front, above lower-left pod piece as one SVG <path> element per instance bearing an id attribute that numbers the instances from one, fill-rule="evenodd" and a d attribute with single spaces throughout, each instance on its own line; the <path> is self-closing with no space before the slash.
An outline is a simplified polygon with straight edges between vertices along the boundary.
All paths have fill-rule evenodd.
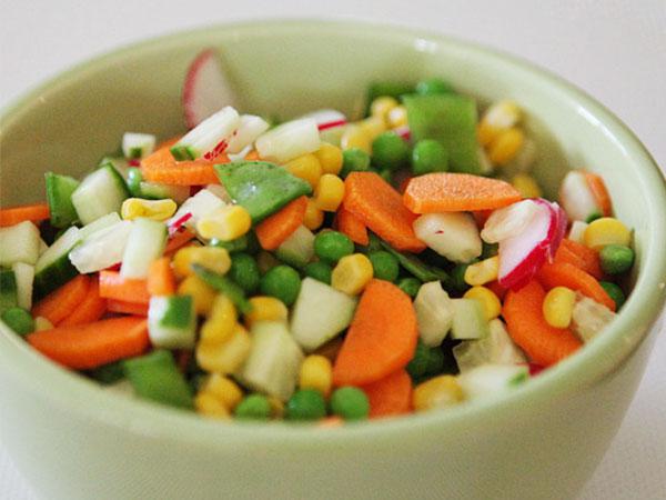
<path id="1" fill-rule="evenodd" d="M 152 297 L 148 308 L 148 333 L 155 348 L 192 349 L 196 313 L 191 296 Z"/>

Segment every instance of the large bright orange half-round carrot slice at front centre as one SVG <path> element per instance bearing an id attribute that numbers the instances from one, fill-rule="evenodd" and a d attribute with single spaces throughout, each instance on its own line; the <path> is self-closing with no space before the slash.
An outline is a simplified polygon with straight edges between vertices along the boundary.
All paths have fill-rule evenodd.
<path id="1" fill-rule="evenodd" d="M 395 284 L 372 280 L 333 366 L 335 386 L 365 386 L 404 368 L 416 349 L 416 313 Z"/>

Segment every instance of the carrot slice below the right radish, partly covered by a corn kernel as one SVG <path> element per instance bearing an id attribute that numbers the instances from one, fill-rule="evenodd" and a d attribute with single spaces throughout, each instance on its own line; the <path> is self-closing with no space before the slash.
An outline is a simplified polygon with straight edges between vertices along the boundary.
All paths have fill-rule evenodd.
<path id="1" fill-rule="evenodd" d="M 532 280 L 518 291 L 506 293 L 502 316 L 508 334 L 529 359 L 549 367 L 574 353 L 582 343 L 568 329 L 553 328 L 546 322 L 542 310 L 545 297 L 538 281 Z"/>

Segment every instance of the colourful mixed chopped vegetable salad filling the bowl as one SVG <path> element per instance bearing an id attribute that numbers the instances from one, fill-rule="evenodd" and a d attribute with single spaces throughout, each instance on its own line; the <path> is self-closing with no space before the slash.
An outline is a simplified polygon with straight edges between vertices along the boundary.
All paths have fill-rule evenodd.
<path id="1" fill-rule="evenodd" d="M 2 321 L 43 356 L 218 419 L 343 421 L 495 397 L 603 334 L 632 231 L 603 179 L 529 176 L 515 102 L 440 79 L 370 87 L 364 118 L 233 107 L 213 51 L 189 132 L 0 210 Z M 599 166 L 601 167 L 601 166 Z"/>

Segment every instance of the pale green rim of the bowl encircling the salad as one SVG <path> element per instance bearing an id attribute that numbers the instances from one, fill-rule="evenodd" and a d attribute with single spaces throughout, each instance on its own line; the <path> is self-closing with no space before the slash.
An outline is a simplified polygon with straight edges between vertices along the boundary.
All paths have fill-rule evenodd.
<path id="1" fill-rule="evenodd" d="M 405 28 L 386 23 L 320 20 L 320 19 L 269 19 L 242 22 L 229 22 L 210 27 L 176 31 L 148 40 L 123 46 L 92 57 L 64 70 L 46 82 L 27 91 L 13 102 L 0 110 L 0 130 L 11 127 L 12 121 L 20 120 L 21 110 L 30 102 L 47 92 L 57 92 L 60 87 L 83 78 L 87 71 L 94 71 L 112 61 L 122 61 L 138 50 L 164 48 L 165 44 L 178 46 L 188 38 L 205 38 L 208 33 L 233 29 L 239 33 L 256 36 L 258 33 L 301 32 L 329 30 L 335 33 L 355 33 L 375 38 L 390 37 L 411 41 L 418 50 L 421 47 L 445 44 L 455 47 L 477 58 L 502 60 L 547 84 L 559 98 L 579 103 L 581 112 L 596 121 L 606 136 L 629 151 L 639 167 L 636 181 L 653 202 L 648 203 L 647 220 L 654 227 L 646 238 L 644 249 L 644 269 L 638 273 L 635 288 L 625 303 L 618 318 L 603 337 L 598 337 L 576 356 L 558 366 L 546 370 L 539 377 L 502 398 L 473 401 L 447 411 L 433 411 L 407 417 L 360 422 L 321 432 L 312 426 L 293 426 L 282 422 L 243 423 L 232 426 L 220 424 L 195 413 L 161 407 L 151 402 L 111 394 L 100 390 L 92 381 L 58 367 L 44 362 L 44 358 L 11 333 L 0 322 L 0 371 L 7 371 L 19 380 L 23 390 L 49 400 L 61 409 L 77 413 L 81 418 L 103 422 L 110 427 L 124 429 L 130 433 L 140 433 L 164 440 L 176 440 L 191 446 L 224 448 L 230 443 L 242 442 L 245 447 L 283 446 L 289 441 L 290 449 L 329 443 L 387 443 L 394 436 L 417 434 L 445 428 L 447 431 L 471 429 L 474 426 L 493 420 L 511 419 L 519 407 L 534 407 L 544 402 L 577 392 L 594 384 L 613 370 L 636 350 L 645 339 L 662 312 L 666 299 L 666 254 L 659 253 L 659 244 L 666 240 L 666 187 L 664 176 L 645 146 L 613 112 L 589 97 L 574 84 L 553 72 L 538 67 L 521 57 L 487 48 L 476 42 L 428 32 L 426 30 Z M 254 34 L 253 34 L 254 33 Z M 426 43 L 423 43 L 426 42 Z M 431 44 L 428 44 L 430 42 Z M 435 49 L 436 50 L 436 49 Z M 0 138 L 2 134 L 0 133 Z M 642 296 L 640 299 L 638 296 Z M 41 380 L 52 380 L 48 386 Z M 178 428 L 178 432 L 174 429 Z"/>

